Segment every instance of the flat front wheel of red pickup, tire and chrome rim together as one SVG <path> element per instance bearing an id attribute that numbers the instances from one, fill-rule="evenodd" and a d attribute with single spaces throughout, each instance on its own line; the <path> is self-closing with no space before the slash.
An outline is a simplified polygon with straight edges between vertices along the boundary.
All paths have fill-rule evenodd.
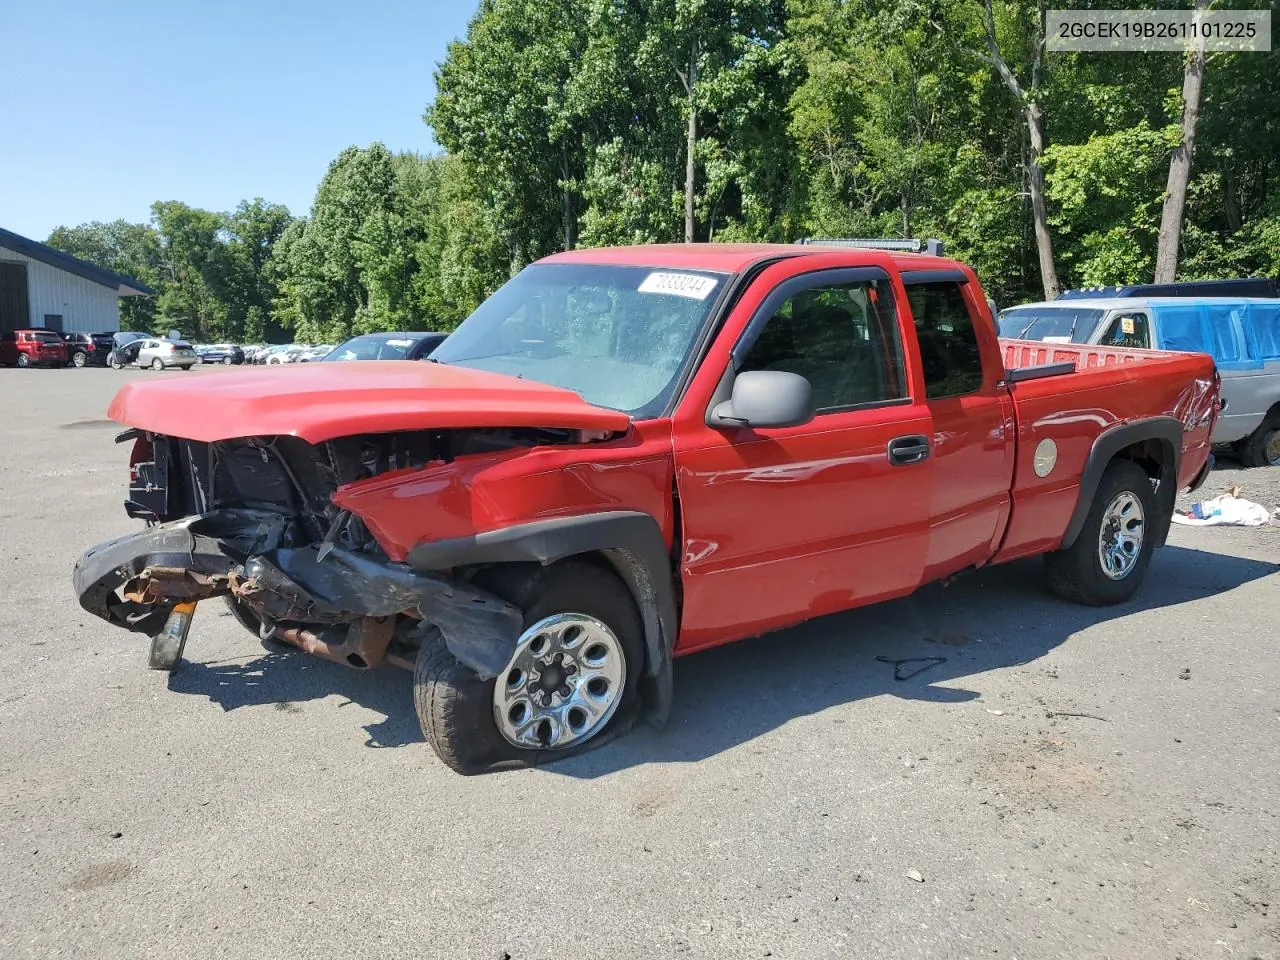
<path id="1" fill-rule="evenodd" d="M 631 593 L 613 573 L 567 561 L 477 579 L 525 611 L 503 673 L 480 680 L 439 635 L 413 669 L 426 741 L 458 773 L 531 767 L 581 753 L 635 722 L 644 640 Z"/>

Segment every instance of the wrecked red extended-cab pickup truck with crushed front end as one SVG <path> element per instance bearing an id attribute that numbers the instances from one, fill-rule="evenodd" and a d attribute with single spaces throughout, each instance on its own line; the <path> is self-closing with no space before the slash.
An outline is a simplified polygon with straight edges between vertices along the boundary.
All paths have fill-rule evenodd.
<path id="1" fill-rule="evenodd" d="M 86 609 L 415 673 L 460 772 L 663 723 L 672 658 L 1044 554 L 1126 599 L 1219 410 L 1199 355 L 996 337 L 951 260 L 650 246 L 526 268 L 428 361 L 125 385 L 128 513 Z"/>

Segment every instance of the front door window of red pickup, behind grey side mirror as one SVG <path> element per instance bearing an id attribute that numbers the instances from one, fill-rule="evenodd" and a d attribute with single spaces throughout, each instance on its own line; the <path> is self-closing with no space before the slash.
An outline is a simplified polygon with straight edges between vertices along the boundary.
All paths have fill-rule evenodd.
<path id="1" fill-rule="evenodd" d="M 739 372 L 804 376 L 819 412 L 906 397 L 902 343 L 887 280 L 810 287 L 769 317 Z"/>

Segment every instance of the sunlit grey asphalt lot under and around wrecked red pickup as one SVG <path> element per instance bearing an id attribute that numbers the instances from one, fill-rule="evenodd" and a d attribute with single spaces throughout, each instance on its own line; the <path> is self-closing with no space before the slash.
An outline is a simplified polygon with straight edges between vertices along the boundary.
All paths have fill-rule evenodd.
<path id="1" fill-rule="evenodd" d="M 0 370 L 0 955 L 1280 957 L 1280 526 L 1175 527 L 1120 608 L 1020 563 L 687 658 L 666 731 L 463 778 L 403 672 L 215 602 L 166 676 L 79 609 L 113 392 L 218 375 Z"/>

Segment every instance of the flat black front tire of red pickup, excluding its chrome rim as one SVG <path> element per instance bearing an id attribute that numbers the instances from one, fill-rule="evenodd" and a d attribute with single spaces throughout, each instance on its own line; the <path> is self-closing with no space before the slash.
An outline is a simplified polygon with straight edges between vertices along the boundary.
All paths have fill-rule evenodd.
<path id="1" fill-rule="evenodd" d="M 516 671 L 508 664 L 502 676 L 480 680 L 449 653 L 443 637 L 433 632 L 424 641 L 413 668 L 413 705 L 422 735 L 436 756 L 463 774 L 534 767 L 582 753 L 630 728 L 639 713 L 644 627 L 631 591 L 617 576 L 591 563 L 567 561 L 545 568 L 499 567 L 486 571 L 477 585 L 524 609 L 526 631 L 556 614 L 581 614 L 607 626 L 623 660 L 622 682 L 607 717 L 582 739 L 563 748 L 516 746 L 498 726 L 494 696 L 497 684 L 508 682 Z M 536 640 L 538 635 L 532 643 Z M 531 680 L 525 682 L 532 689 Z M 571 714 L 570 709 L 564 716 Z"/>

